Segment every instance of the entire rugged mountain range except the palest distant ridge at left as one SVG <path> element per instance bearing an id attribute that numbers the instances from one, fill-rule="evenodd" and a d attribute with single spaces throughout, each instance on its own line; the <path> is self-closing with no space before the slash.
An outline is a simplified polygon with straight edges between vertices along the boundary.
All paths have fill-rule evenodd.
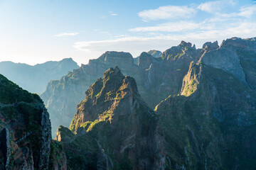
<path id="1" fill-rule="evenodd" d="M 105 52 L 41 95 L 51 142 L 41 99 L 1 77 L 0 169 L 256 169 L 255 68 L 255 38 Z"/>

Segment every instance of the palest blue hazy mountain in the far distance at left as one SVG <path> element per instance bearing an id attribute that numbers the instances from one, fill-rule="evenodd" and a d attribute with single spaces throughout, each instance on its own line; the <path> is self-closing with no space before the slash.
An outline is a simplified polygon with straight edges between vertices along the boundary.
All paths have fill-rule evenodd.
<path id="1" fill-rule="evenodd" d="M 31 66 L 14 62 L 0 62 L 0 74 L 14 81 L 32 93 L 41 94 L 46 90 L 50 80 L 60 79 L 73 69 L 78 69 L 78 64 L 71 58 L 59 62 L 45 62 Z"/>

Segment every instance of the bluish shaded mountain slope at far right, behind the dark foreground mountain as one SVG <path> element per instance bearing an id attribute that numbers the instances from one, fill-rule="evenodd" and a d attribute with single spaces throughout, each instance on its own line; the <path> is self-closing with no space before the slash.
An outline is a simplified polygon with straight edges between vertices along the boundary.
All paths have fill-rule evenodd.
<path id="1" fill-rule="evenodd" d="M 213 46 L 213 45 L 211 45 Z M 208 45 L 206 45 L 208 47 Z M 213 47 L 211 47 L 213 48 Z M 256 40 L 255 38 L 230 38 L 220 47 L 206 52 L 201 62 L 233 74 L 244 84 L 255 89 Z"/>

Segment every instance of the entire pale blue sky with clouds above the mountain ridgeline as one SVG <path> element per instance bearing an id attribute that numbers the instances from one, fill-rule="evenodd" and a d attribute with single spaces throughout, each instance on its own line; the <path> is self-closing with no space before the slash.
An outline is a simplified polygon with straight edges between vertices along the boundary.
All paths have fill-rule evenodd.
<path id="1" fill-rule="evenodd" d="M 235 36 L 256 36 L 255 1 L 0 0 L 0 61 L 87 64 L 107 50 L 137 57 Z"/>

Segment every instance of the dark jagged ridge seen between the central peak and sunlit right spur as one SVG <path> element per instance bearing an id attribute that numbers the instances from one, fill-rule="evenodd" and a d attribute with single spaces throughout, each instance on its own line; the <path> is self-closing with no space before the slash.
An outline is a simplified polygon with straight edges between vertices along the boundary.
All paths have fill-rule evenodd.
<path id="1" fill-rule="evenodd" d="M 190 62 L 197 62 L 203 52 L 203 49 L 196 50 L 190 42 L 182 41 L 163 52 L 162 60 L 153 60 L 141 79 L 144 91 L 139 89 L 146 103 L 153 108 L 169 95 L 178 94 Z"/>

